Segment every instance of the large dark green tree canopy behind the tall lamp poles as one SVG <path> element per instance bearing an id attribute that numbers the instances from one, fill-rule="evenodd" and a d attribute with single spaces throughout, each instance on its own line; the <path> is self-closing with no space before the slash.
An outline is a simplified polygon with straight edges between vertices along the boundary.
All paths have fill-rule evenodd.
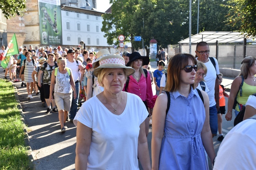
<path id="1" fill-rule="evenodd" d="M 197 33 L 198 1 L 192 2 L 191 34 L 194 35 Z M 237 30 L 228 24 L 225 18 L 229 11 L 227 1 L 200 0 L 199 2 L 199 32 Z M 112 3 L 112 14 L 103 15 L 101 29 L 105 32 L 104 36 L 107 37 L 110 45 L 117 40 L 118 35 L 123 34 L 126 40 L 131 41 L 132 51 L 142 48 L 141 42 L 133 40 L 134 36 L 141 36 L 147 47 L 154 38 L 158 42 L 158 48 L 165 48 L 177 44 L 189 35 L 188 0 L 110 0 L 110 3 Z M 237 23 L 237 26 L 240 26 L 240 23 Z"/>

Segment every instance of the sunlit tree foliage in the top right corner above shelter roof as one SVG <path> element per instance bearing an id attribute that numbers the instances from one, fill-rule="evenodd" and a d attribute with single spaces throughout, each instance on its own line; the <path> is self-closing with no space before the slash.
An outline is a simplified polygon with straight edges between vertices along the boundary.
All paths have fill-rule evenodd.
<path id="1" fill-rule="evenodd" d="M 244 32 L 247 37 L 256 36 L 256 1 L 230 0 L 227 22 L 233 29 Z"/>

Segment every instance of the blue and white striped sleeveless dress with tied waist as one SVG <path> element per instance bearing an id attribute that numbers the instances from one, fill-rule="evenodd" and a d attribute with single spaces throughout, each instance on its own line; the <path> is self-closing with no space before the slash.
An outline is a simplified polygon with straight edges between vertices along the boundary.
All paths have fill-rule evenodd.
<path id="1" fill-rule="evenodd" d="M 165 120 L 159 170 L 209 169 L 201 131 L 205 110 L 196 89 L 188 97 L 170 92 L 171 105 Z"/>

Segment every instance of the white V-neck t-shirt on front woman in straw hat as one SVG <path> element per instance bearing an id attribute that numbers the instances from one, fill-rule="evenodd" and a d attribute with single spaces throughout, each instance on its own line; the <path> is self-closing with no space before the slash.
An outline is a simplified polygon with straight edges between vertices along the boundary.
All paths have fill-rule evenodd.
<path id="1" fill-rule="evenodd" d="M 79 109 L 77 121 L 93 130 L 88 156 L 90 169 L 139 169 L 138 137 L 140 124 L 148 112 L 142 100 L 127 94 L 127 103 L 121 115 L 111 113 L 97 98 L 90 98 Z"/>

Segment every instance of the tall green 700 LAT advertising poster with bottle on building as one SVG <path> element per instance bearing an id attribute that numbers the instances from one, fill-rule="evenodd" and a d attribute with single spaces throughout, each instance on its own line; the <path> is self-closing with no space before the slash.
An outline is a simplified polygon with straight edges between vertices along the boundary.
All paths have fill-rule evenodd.
<path id="1" fill-rule="evenodd" d="M 40 41 L 42 45 L 61 45 L 60 0 L 38 0 Z"/>

